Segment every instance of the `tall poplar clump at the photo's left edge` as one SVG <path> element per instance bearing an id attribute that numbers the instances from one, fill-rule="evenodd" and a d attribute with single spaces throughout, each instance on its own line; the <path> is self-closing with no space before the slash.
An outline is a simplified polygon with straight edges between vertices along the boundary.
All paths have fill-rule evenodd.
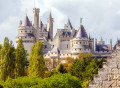
<path id="1" fill-rule="evenodd" d="M 13 76 L 15 68 L 15 48 L 12 41 L 5 37 L 3 46 L 0 45 L 0 79 L 6 80 Z"/>

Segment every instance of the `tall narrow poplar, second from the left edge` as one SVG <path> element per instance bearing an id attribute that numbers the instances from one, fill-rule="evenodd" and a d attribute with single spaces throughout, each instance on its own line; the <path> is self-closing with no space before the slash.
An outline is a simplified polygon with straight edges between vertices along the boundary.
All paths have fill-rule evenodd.
<path id="1" fill-rule="evenodd" d="M 16 49 L 16 77 L 25 76 L 26 55 L 22 39 L 19 39 Z"/>

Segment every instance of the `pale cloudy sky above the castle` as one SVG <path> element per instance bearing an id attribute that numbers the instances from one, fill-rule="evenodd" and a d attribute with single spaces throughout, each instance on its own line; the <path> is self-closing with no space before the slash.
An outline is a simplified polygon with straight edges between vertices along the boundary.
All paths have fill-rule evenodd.
<path id="1" fill-rule="evenodd" d="M 40 18 L 47 24 L 47 17 L 54 18 L 54 35 L 57 29 L 64 28 L 70 19 L 78 30 L 83 18 L 87 34 L 98 40 L 102 37 L 113 46 L 120 38 L 120 0 L 0 0 L 0 44 L 8 37 L 16 46 L 20 20 L 26 14 L 33 21 L 33 8 L 40 8 Z"/>

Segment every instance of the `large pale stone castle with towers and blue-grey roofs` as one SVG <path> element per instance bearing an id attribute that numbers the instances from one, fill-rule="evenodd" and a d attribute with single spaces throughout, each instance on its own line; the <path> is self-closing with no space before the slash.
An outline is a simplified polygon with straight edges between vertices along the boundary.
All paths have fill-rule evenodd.
<path id="1" fill-rule="evenodd" d="M 31 46 L 37 41 L 43 41 L 44 58 L 58 59 L 62 63 L 65 58 L 70 56 L 77 58 L 80 52 L 92 53 L 93 57 L 101 58 L 108 57 L 112 53 L 112 40 L 110 44 L 105 44 L 101 38 L 100 41 L 87 35 L 87 32 L 82 24 L 82 19 L 79 28 L 76 30 L 68 19 L 67 24 L 63 29 L 57 29 L 53 37 L 53 22 L 54 19 L 49 14 L 47 18 L 48 24 L 43 24 L 39 19 L 39 8 L 33 8 L 34 23 L 32 23 L 26 15 L 24 22 L 20 21 L 18 27 L 18 35 L 16 36 L 16 43 L 19 38 L 23 39 L 25 50 L 30 55 Z"/>

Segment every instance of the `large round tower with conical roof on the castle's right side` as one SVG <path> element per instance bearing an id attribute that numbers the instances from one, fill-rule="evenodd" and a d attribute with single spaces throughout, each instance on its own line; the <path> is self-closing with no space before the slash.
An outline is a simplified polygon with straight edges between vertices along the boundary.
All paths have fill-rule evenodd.
<path id="1" fill-rule="evenodd" d="M 74 58 L 76 58 L 80 52 L 90 52 L 89 39 L 83 25 L 80 26 L 76 37 L 73 39 L 73 47 L 71 49 Z"/>

